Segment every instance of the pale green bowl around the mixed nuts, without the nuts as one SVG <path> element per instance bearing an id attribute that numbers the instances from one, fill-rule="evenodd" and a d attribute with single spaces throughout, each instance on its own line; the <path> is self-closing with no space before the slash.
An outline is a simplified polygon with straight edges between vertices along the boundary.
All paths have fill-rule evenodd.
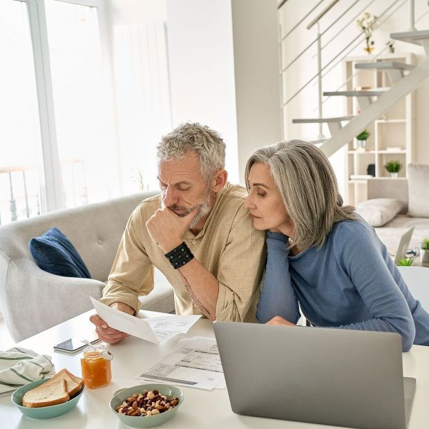
<path id="1" fill-rule="evenodd" d="M 115 410 L 117 406 L 120 406 L 126 398 L 133 396 L 135 393 L 141 393 L 143 390 L 158 390 L 160 394 L 164 394 L 168 398 L 179 398 L 179 403 L 172 410 L 162 412 L 161 414 L 156 414 L 155 416 L 127 416 L 126 414 L 120 414 Z M 182 405 L 184 399 L 184 394 L 182 390 L 176 388 L 173 385 L 160 384 L 160 383 L 150 383 L 150 384 L 139 384 L 135 385 L 132 388 L 118 390 L 115 393 L 115 396 L 111 399 L 110 407 L 111 410 L 117 415 L 117 418 L 122 421 L 122 423 L 132 428 L 154 428 L 155 426 L 160 426 L 166 421 L 172 419 L 175 414 L 178 412 L 178 408 Z"/>

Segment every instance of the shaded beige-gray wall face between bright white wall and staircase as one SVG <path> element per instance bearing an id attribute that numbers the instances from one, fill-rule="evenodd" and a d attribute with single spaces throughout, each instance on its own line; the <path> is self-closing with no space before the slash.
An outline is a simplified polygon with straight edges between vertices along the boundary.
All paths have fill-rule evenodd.
<path id="1" fill-rule="evenodd" d="M 275 0 L 232 0 L 238 165 L 282 136 Z"/>

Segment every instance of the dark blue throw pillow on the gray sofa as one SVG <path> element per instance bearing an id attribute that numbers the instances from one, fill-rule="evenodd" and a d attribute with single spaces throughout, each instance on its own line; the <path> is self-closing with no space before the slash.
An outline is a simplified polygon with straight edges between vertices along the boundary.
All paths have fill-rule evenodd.
<path id="1" fill-rule="evenodd" d="M 28 243 L 37 265 L 57 276 L 91 278 L 88 268 L 64 233 L 51 228 Z"/>

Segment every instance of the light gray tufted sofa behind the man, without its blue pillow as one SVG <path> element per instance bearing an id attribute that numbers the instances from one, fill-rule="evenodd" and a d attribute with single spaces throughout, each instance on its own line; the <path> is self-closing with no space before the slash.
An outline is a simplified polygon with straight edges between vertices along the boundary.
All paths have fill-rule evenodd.
<path id="1" fill-rule="evenodd" d="M 0 227 L 0 307 L 8 330 L 21 341 L 92 308 L 111 270 L 126 221 L 148 191 L 12 222 Z M 61 277 L 42 271 L 28 250 L 30 238 L 57 227 L 76 247 L 88 278 Z M 155 288 L 140 298 L 142 308 L 174 312 L 173 288 L 155 270 Z"/>

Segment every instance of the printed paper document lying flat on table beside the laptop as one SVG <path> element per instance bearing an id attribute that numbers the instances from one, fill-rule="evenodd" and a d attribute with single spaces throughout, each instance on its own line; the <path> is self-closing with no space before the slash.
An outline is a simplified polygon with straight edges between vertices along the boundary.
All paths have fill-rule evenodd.
<path id="1" fill-rule="evenodd" d="M 169 356 L 136 378 L 205 390 L 226 387 L 216 340 L 202 336 L 180 340 Z"/>

